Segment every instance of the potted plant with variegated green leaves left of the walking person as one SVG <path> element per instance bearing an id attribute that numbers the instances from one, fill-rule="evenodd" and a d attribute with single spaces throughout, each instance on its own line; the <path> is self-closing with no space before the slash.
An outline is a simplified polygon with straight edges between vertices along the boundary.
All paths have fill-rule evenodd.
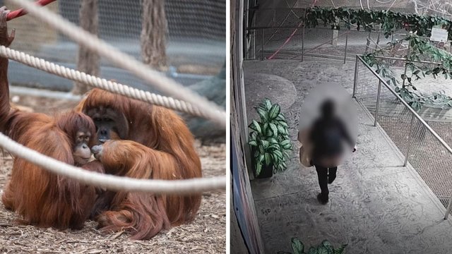
<path id="1" fill-rule="evenodd" d="M 268 178 L 276 171 L 287 169 L 286 159 L 292 150 L 292 143 L 287 130 L 285 116 L 279 104 L 272 104 L 270 99 L 255 108 L 261 120 L 253 120 L 249 125 L 249 145 L 251 162 L 256 178 Z"/>

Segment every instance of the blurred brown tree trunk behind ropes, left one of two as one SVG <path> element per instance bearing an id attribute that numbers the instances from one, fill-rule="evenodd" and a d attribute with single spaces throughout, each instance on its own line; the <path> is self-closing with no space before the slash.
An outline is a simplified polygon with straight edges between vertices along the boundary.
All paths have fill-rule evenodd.
<path id="1" fill-rule="evenodd" d="M 97 35 L 97 0 L 82 0 L 79 18 L 81 28 L 87 30 L 93 35 Z M 99 63 L 100 57 L 98 54 L 89 51 L 85 47 L 79 47 L 77 62 L 78 71 L 83 71 L 84 73 L 90 75 L 98 75 Z M 83 83 L 75 83 L 72 92 L 74 95 L 83 95 L 90 89 L 91 87 L 88 85 Z"/>

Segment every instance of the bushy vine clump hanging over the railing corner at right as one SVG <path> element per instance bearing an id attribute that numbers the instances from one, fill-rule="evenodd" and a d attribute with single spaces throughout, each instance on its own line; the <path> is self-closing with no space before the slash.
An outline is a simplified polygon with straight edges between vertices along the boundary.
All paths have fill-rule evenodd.
<path id="1" fill-rule="evenodd" d="M 406 56 L 407 68 L 411 75 L 400 75 L 405 83 L 400 87 L 400 82 L 396 80 L 394 73 L 390 70 L 388 64 L 383 59 L 378 59 L 376 56 L 385 54 L 388 50 L 408 41 L 410 50 Z M 426 68 L 422 66 L 420 56 L 429 56 L 432 61 L 438 63 L 436 66 Z M 376 68 L 376 73 L 379 73 L 386 83 L 395 86 L 395 91 L 407 102 L 413 109 L 420 110 L 424 105 L 430 107 L 449 108 L 452 107 L 452 97 L 444 94 L 444 92 L 435 92 L 432 95 L 423 95 L 417 92 L 417 88 L 412 84 L 413 80 L 419 80 L 426 75 L 432 75 L 434 78 L 441 75 L 444 78 L 452 78 L 452 55 L 444 50 L 438 49 L 429 43 L 428 40 L 419 37 L 418 35 L 408 35 L 403 40 L 391 43 L 388 48 L 379 49 L 362 56 L 362 59 L 369 64 L 369 66 Z"/>

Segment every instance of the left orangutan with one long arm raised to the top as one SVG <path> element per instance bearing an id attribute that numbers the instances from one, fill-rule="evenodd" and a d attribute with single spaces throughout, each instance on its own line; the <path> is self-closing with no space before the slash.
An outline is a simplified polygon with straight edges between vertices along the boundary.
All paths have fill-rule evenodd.
<path id="1" fill-rule="evenodd" d="M 8 47 L 6 15 L 0 8 L 0 44 Z M 90 117 L 70 111 L 56 117 L 11 108 L 8 59 L 0 57 L 0 131 L 16 142 L 67 164 L 103 172 L 100 162 L 90 162 L 95 125 Z M 25 224 L 57 229 L 80 229 L 88 219 L 96 198 L 95 187 L 57 176 L 16 157 L 1 197 L 5 207 L 20 214 Z"/>

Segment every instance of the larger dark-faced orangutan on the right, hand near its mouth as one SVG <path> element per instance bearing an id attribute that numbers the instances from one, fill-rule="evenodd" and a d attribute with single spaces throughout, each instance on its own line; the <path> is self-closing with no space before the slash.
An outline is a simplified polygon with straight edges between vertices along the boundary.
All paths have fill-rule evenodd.
<path id="1" fill-rule="evenodd" d="M 90 116 L 102 146 L 93 147 L 107 174 L 138 179 L 201 177 L 194 138 L 174 111 L 93 89 L 78 109 Z M 110 140 L 110 141 L 108 141 Z M 128 229 L 134 239 L 194 219 L 201 195 L 154 195 L 107 191 L 93 217 L 102 231 Z"/>

